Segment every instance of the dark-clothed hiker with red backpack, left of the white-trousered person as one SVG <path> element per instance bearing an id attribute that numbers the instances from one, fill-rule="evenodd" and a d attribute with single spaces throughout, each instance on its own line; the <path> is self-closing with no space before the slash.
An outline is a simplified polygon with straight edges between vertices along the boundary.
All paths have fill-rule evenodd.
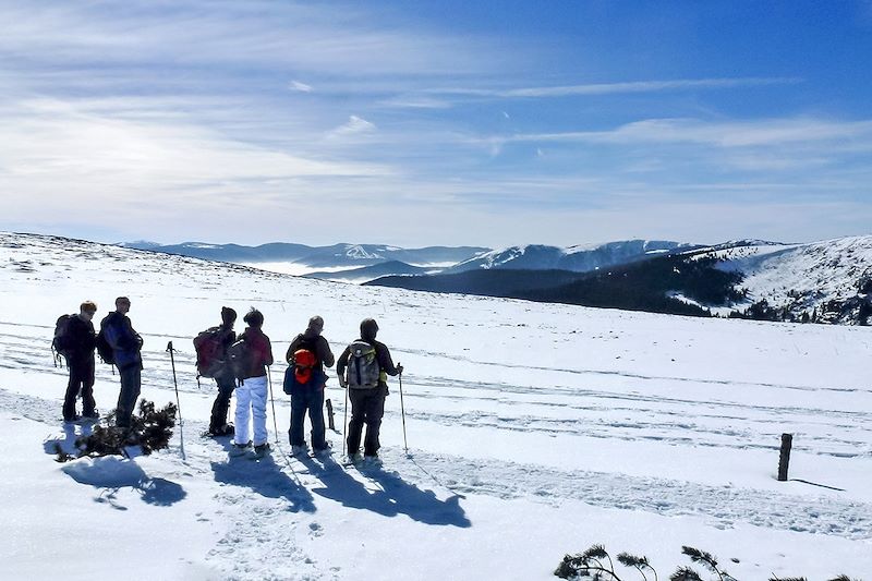
<path id="1" fill-rule="evenodd" d="M 218 327 L 209 327 L 194 339 L 198 376 L 213 377 L 218 385 L 218 395 L 211 406 L 207 432 L 213 437 L 232 436 L 234 431 L 233 424 L 227 423 L 227 413 L 230 410 L 230 398 L 237 387 L 237 378 L 230 366 L 227 350 L 237 340 L 237 334 L 233 331 L 235 322 L 237 312 L 229 306 L 222 306 L 221 324 Z"/>

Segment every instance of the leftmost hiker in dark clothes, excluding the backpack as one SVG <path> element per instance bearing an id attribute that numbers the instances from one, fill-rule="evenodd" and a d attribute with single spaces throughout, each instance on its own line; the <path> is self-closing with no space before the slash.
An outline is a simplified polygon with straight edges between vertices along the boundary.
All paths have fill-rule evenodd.
<path id="1" fill-rule="evenodd" d="M 64 334 L 64 353 L 66 365 L 70 367 L 70 382 L 66 384 L 66 395 L 63 398 L 63 421 L 75 422 L 76 397 L 82 395 L 82 416 L 97 419 L 97 404 L 94 401 L 94 348 L 97 346 L 97 336 L 94 332 L 94 314 L 97 305 L 85 301 L 78 307 L 77 315 L 71 315 L 66 323 Z"/>

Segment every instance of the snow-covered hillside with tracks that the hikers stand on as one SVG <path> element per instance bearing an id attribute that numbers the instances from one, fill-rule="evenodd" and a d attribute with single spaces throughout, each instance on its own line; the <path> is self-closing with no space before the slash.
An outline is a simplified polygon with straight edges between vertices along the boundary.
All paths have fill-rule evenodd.
<path id="1" fill-rule="evenodd" d="M 83 428 L 61 423 L 55 319 L 84 299 L 99 319 L 120 294 L 145 338 L 144 397 L 174 401 L 179 350 L 186 460 L 177 431 L 152 457 L 56 463 Z M 546 580 L 596 543 L 661 579 L 689 565 L 681 545 L 743 581 L 872 579 L 868 328 L 355 287 L 2 233 L 0 299 L 4 579 Z M 393 379 L 382 469 L 288 459 L 283 364 L 271 457 L 199 437 L 215 390 L 194 379 L 191 338 L 222 305 L 261 308 L 278 360 L 313 314 L 335 351 L 374 316 L 405 366 L 409 453 Z M 341 429 L 335 379 L 327 395 Z M 98 407 L 117 396 L 99 364 Z"/>

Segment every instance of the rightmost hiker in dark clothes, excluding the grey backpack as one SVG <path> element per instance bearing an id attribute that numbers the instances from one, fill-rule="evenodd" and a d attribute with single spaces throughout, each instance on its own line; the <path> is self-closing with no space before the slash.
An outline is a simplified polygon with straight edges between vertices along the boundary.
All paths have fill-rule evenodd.
<path id="1" fill-rule="evenodd" d="M 382 416 L 385 414 L 385 398 L 388 395 L 387 376 L 402 373 L 402 365 L 393 366 L 387 346 L 375 340 L 376 332 L 378 332 L 378 324 L 375 319 L 365 318 L 361 322 L 361 340 L 373 346 L 378 361 L 379 374 L 378 383 L 375 387 L 365 389 L 349 388 L 344 373 L 351 356 L 351 346 L 346 348 L 336 363 L 339 383 L 349 390 L 349 398 L 351 399 L 351 422 L 348 425 L 348 456 L 352 460 L 356 460 L 360 455 L 363 424 L 366 424 L 366 437 L 363 440 L 364 459 L 378 458 L 378 449 L 382 447 L 378 441 L 378 433 L 382 428 Z"/>

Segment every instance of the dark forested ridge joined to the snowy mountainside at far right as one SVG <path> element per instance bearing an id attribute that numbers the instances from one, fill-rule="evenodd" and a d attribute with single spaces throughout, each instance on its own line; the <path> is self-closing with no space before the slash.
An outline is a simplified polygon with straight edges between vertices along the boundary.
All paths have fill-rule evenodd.
<path id="1" fill-rule="evenodd" d="M 638 256 L 638 255 L 635 255 Z M 586 306 L 766 320 L 867 324 L 872 237 L 681 247 L 588 273 L 479 269 L 367 285 Z"/>

